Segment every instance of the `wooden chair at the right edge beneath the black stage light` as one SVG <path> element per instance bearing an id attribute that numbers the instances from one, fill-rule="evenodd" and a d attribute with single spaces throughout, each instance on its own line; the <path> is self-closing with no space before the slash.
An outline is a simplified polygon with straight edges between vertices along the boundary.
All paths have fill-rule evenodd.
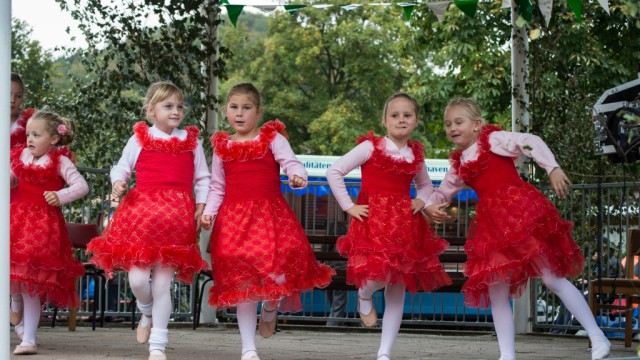
<path id="1" fill-rule="evenodd" d="M 640 280 L 633 276 L 633 257 L 640 255 L 640 230 L 630 229 L 627 236 L 627 266 L 624 278 L 602 278 L 589 283 L 589 307 L 596 316 L 600 310 L 618 310 L 625 313 L 624 346 L 630 347 L 633 340 L 633 309 L 634 304 L 640 304 Z M 598 302 L 597 294 L 612 294 L 615 298 L 625 300 L 624 304 L 603 304 Z"/>

